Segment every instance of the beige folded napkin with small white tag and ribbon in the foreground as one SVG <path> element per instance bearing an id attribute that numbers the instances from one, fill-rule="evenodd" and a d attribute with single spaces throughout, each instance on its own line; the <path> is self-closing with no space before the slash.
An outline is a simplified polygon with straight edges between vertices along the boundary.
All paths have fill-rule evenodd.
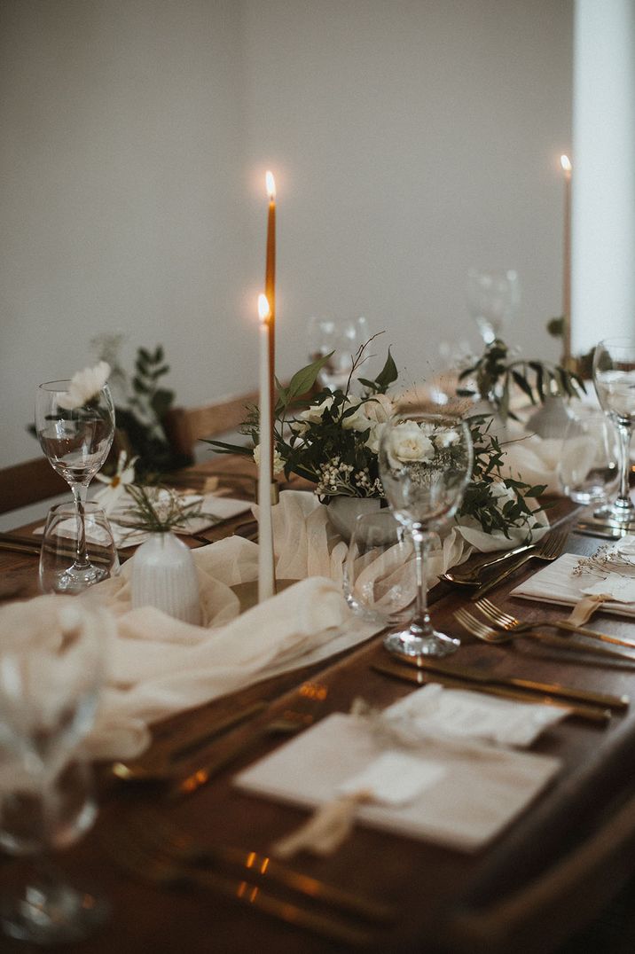
<path id="1" fill-rule="evenodd" d="M 334 850 L 352 811 L 371 826 L 470 852 L 495 838 L 560 767 L 552 757 L 431 736 L 404 747 L 378 733 L 372 720 L 337 713 L 234 782 L 265 798 L 323 808 L 313 817 L 317 847 L 309 821 L 304 833 L 274 846 L 283 855 L 309 846 L 323 854 Z"/>

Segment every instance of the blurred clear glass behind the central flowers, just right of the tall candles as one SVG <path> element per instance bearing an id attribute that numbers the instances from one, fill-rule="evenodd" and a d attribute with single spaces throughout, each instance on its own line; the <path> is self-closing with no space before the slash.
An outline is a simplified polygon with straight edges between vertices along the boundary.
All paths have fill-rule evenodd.
<path id="1" fill-rule="evenodd" d="M 308 354 L 311 361 L 330 355 L 318 376 L 322 387 L 334 391 L 344 388 L 349 380 L 353 359 L 362 344 L 370 339 L 365 318 L 339 321 L 333 318 L 311 318 L 308 321 Z"/>

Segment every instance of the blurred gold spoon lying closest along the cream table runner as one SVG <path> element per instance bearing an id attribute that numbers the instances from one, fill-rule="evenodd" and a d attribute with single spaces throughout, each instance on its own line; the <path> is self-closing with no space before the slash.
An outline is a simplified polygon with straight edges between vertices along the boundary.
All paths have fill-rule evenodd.
<path id="1" fill-rule="evenodd" d="M 219 720 L 204 732 L 199 729 L 195 736 L 185 740 L 180 739 L 176 747 L 171 747 L 167 751 L 161 748 L 156 755 L 151 749 L 147 756 L 127 762 L 113 762 L 110 770 L 121 781 L 158 782 L 176 778 L 178 775 L 176 763 L 189 758 L 209 742 L 241 725 L 247 719 L 257 716 L 263 712 L 266 705 L 266 702 L 254 702 L 253 705 L 246 706 L 239 712 Z"/>

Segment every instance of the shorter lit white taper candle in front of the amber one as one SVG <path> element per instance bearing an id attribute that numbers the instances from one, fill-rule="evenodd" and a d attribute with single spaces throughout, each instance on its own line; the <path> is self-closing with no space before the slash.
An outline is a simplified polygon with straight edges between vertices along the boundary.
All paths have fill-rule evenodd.
<path id="1" fill-rule="evenodd" d="M 271 312 L 266 295 L 258 296 L 260 318 L 260 456 L 258 461 L 258 602 L 273 596 L 273 527 L 271 523 L 271 375 L 269 364 L 269 321 Z"/>

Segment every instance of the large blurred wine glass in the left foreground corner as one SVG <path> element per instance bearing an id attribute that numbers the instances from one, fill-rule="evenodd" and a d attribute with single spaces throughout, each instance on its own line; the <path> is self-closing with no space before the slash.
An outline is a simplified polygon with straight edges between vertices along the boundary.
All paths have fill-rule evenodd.
<path id="1" fill-rule="evenodd" d="M 78 940 L 107 907 L 67 883 L 52 855 L 95 820 L 77 747 L 94 724 L 110 623 L 103 611 L 46 596 L 8 607 L 0 625 L 0 844 L 32 856 L 35 869 L 21 893 L 3 899 L 2 927 L 36 944 Z"/>

